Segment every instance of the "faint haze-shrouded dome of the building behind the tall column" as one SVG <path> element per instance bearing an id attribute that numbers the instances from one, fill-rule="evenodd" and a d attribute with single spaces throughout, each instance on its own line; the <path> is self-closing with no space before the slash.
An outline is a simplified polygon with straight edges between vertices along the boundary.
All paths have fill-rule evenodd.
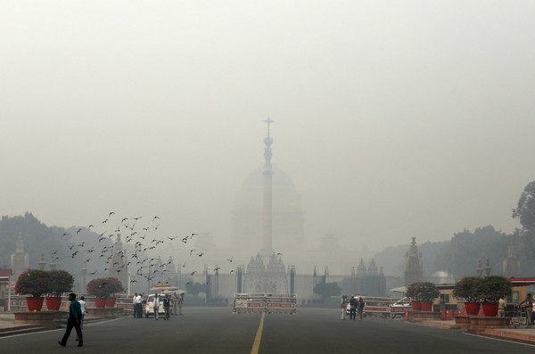
<path id="1" fill-rule="evenodd" d="M 259 167 L 243 180 L 235 195 L 232 212 L 231 241 L 233 247 L 243 248 L 254 254 L 262 239 L 264 193 L 263 167 Z M 273 165 L 273 250 L 278 253 L 304 248 L 304 217 L 300 193 L 283 169 Z"/>

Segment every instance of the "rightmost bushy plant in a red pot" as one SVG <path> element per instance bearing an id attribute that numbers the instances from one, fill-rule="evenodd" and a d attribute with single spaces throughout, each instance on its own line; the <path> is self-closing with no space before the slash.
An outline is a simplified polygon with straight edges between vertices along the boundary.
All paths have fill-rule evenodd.
<path id="1" fill-rule="evenodd" d="M 498 300 L 502 295 L 509 295 L 513 291 L 513 284 L 505 276 L 485 276 L 476 285 L 482 301 L 483 314 L 487 317 L 498 315 Z"/>

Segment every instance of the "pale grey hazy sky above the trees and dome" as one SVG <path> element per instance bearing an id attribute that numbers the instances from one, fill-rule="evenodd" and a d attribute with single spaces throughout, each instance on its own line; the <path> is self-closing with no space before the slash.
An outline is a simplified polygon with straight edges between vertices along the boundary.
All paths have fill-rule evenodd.
<path id="1" fill-rule="evenodd" d="M 229 240 L 273 162 L 311 245 L 511 232 L 535 180 L 532 1 L 0 1 L 0 213 Z M 260 241 L 259 241 L 260 244 Z"/>

